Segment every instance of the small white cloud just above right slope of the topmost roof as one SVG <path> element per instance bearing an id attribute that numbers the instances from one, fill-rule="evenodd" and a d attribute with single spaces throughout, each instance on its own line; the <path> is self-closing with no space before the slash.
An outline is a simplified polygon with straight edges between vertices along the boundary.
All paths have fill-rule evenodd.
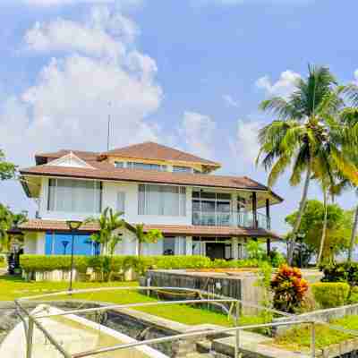
<path id="1" fill-rule="evenodd" d="M 216 123 L 208 116 L 197 112 L 184 112 L 179 129 L 186 150 L 202 158 L 213 158 L 213 140 Z"/>

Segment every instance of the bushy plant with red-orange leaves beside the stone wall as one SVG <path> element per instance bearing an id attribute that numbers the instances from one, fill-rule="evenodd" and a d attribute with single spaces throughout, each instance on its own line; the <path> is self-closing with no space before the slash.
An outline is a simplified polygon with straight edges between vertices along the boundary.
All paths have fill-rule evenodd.
<path id="1" fill-rule="evenodd" d="M 271 290 L 274 294 L 274 308 L 294 313 L 303 303 L 308 283 L 303 279 L 301 269 L 283 265 L 271 280 Z"/>

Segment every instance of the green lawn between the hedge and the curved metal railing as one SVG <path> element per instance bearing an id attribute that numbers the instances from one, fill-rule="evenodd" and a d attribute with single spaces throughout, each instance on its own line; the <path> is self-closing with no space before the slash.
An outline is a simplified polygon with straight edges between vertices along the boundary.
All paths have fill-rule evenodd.
<path id="1" fill-rule="evenodd" d="M 74 283 L 75 289 L 105 286 L 137 286 L 134 282 L 112 282 L 112 283 Z M 50 294 L 58 291 L 64 291 L 68 284 L 63 282 L 25 282 L 21 278 L 0 277 L 0 301 L 13 301 L 15 298 L 32 296 L 38 294 Z M 68 299 L 68 296 L 55 296 L 53 300 Z M 72 299 L 102 301 L 108 303 L 142 303 L 155 302 L 155 298 L 139 294 L 137 291 L 102 291 L 90 294 L 73 294 Z M 166 305 L 137 308 L 139 311 L 145 311 L 168 320 L 175 320 L 188 325 L 197 325 L 203 323 L 217 324 L 221 326 L 231 326 L 232 323 L 227 320 L 227 316 L 217 312 L 200 310 L 188 305 Z M 250 320 L 245 318 L 245 323 L 250 324 Z"/>

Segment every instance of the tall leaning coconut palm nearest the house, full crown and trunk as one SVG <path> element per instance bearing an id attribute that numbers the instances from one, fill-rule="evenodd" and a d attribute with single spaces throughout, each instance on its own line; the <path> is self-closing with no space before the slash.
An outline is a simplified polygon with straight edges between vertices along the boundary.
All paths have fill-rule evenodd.
<path id="1" fill-rule="evenodd" d="M 312 176 L 320 177 L 322 171 L 331 173 L 331 166 L 358 183 L 358 171 L 345 156 L 342 146 L 345 132 L 337 122 L 337 112 L 343 107 L 341 89 L 327 67 L 309 66 L 307 79 L 297 80 L 295 90 L 288 98 L 271 98 L 263 101 L 260 108 L 277 115 L 277 120 L 259 132 L 260 163 L 268 175 L 272 187 L 279 175 L 292 167 L 290 183 L 301 183 L 304 174 L 303 193 L 287 260 L 292 263 L 294 241 L 301 225 Z M 355 175 L 355 177 L 354 177 Z"/>

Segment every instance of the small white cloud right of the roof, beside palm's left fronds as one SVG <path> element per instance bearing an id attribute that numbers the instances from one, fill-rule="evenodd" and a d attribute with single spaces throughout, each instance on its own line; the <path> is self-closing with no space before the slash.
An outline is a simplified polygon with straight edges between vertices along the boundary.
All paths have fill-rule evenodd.
<path id="1" fill-rule="evenodd" d="M 237 121 L 236 136 L 230 144 L 234 158 L 239 158 L 236 161 L 253 164 L 259 154 L 258 133 L 263 125 L 260 121 Z"/>

